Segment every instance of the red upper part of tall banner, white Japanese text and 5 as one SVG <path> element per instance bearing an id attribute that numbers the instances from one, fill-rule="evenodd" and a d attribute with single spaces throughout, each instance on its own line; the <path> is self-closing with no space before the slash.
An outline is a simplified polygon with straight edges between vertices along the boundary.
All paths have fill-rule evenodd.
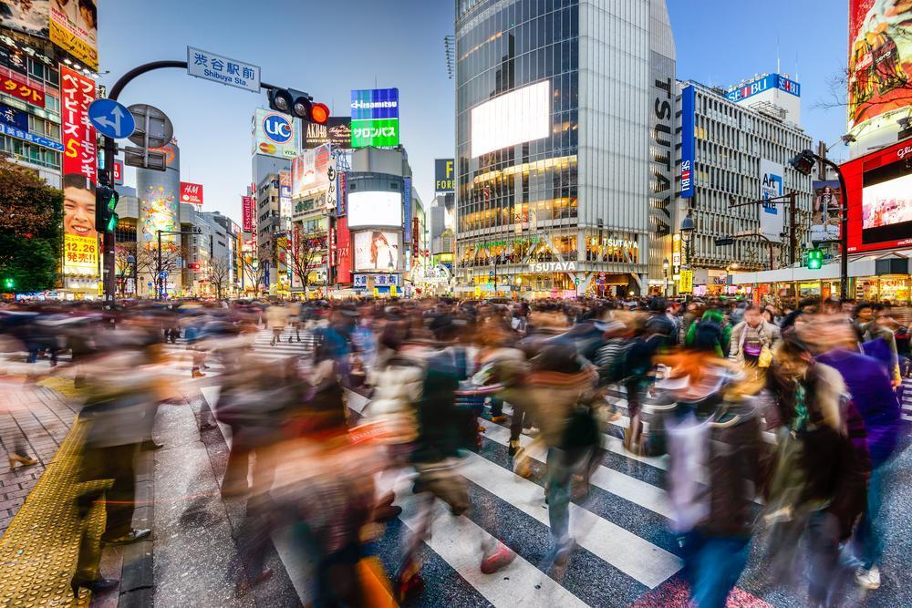
<path id="1" fill-rule="evenodd" d="M 95 101 L 95 81 L 60 66 L 60 121 L 63 131 L 63 174 L 78 173 L 98 182 L 95 127 L 88 106 Z"/>

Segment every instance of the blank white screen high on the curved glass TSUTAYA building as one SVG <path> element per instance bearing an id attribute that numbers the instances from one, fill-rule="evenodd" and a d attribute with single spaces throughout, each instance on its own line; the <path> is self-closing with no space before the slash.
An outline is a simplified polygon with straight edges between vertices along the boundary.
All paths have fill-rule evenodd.
<path id="1" fill-rule="evenodd" d="M 517 88 L 472 108 L 472 158 L 551 134 L 551 81 Z"/>

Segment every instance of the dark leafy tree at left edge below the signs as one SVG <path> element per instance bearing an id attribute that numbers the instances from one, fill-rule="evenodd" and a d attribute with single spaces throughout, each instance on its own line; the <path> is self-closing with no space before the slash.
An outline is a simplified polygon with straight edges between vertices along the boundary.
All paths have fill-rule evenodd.
<path id="1" fill-rule="evenodd" d="M 42 292 L 60 280 L 63 192 L 0 158 L 0 290 Z M 12 287 L 4 287 L 5 282 Z"/>

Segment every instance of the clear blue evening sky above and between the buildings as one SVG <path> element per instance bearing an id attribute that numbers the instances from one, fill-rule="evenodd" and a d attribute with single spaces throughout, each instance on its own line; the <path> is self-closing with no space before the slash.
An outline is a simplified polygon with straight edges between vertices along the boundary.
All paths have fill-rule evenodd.
<path id="1" fill-rule="evenodd" d="M 845 110 L 813 106 L 830 98 L 828 81 L 845 66 L 846 5 L 668 0 L 678 77 L 728 86 L 772 72 L 778 38 L 782 71 L 797 73 L 803 86 L 804 128 L 832 143 L 845 132 Z M 401 138 L 426 204 L 433 160 L 452 155 L 453 81 L 442 41 L 453 31 L 452 0 L 100 0 L 98 26 L 100 69 L 109 72 L 101 82 L 109 87 L 141 63 L 185 59 L 188 45 L 259 65 L 264 81 L 306 90 L 343 116 L 350 89 L 398 87 Z M 240 220 L 250 117 L 264 93 L 163 69 L 134 80 L 120 101 L 164 110 L 181 147 L 181 179 L 203 184 L 203 209 Z M 845 155 L 839 147 L 833 153 Z"/>

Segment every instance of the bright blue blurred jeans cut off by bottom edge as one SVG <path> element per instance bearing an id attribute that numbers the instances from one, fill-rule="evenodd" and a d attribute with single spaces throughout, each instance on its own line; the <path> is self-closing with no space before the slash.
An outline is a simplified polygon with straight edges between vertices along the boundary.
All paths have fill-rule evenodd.
<path id="1" fill-rule="evenodd" d="M 751 537 L 706 536 L 691 531 L 683 537 L 684 574 L 690 599 L 699 608 L 724 608 L 750 554 Z"/>

